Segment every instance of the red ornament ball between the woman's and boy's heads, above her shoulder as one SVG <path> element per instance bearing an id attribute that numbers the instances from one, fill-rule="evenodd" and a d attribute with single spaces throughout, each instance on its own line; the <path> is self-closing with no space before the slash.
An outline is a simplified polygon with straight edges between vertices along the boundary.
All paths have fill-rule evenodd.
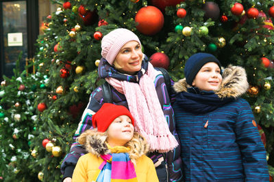
<path id="1" fill-rule="evenodd" d="M 153 55 L 151 55 L 150 57 L 150 63 L 154 66 L 154 67 L 164 67 L 164 69 L 168 69 L 169 68 L 169 57 L 162 53 L 162 52 L 156 52 Z"/>

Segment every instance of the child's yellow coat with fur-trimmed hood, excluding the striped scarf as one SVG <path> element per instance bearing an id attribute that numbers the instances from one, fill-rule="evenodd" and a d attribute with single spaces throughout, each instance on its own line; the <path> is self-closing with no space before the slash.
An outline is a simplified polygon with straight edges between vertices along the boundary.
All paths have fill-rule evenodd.
<path id="1" fill-rule="evenodd" d="M 100 155 L 110 153 L 105 144 L 107 136 L 104 133 L 97 132 L 97 129 L 86 130 L 79 138 L 80 144 L 84 145 L 87 154 L 79 158 L 75 170 L 73 172 L 73 181 L 91 182 L 96 170 L 103 162 Z M 127 142 L 125 147 L 129 147 L 129 158 L 134 164 L 138 182 L 158 181 L 152 160 L 145 154 L 149 151 L 149 145 L 145 138 L 134 132 L 132 140 Z"/>

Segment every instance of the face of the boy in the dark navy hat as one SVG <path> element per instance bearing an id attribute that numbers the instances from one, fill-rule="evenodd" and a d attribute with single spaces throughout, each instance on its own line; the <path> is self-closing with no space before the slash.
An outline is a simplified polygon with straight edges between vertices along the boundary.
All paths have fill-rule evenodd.
<path id="1" fill-rule="evenodd" d="M 221 85 L 222 79 L 219 65 L 210 62 L 201 67 L 192 82 L 192 86 L 198 87 L 202 91 L 215 91 Z"/>

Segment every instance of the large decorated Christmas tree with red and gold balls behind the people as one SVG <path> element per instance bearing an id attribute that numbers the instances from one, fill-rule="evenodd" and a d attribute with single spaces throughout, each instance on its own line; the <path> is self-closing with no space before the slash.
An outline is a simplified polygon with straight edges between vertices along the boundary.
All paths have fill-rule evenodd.
<path id="1" fill-rule="evenodd" d="M 184 78 L 184 63 L 196 52 L 210 52 L 224 67 L 245 67 L 251 104 L 273 174 L 273 24 L 271 1 L 53 1 L 58 10 L 45 20 L 38 38 L 36 65 L 47 78 L 34 106 L 37 175 L 60 181 L 60 164 L 93 89 L 99 84 L 97 65 L 101 38 L 118 27 L 141 40 L 154 66 L 174 80 Z M 44 177 L 42 177 L 44 175 Z"/>

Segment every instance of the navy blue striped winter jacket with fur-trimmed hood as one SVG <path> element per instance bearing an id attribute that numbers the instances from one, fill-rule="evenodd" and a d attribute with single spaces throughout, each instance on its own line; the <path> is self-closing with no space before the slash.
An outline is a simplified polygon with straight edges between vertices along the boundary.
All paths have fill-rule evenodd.
<path id="1" fill-rule="evenodd" d="M 173 106 L 185 181 L 269 181 L 266 152 L 249 104 L 245 70 L 229 66 L 221 88 L 199 91 L 182 79 Z"/>

